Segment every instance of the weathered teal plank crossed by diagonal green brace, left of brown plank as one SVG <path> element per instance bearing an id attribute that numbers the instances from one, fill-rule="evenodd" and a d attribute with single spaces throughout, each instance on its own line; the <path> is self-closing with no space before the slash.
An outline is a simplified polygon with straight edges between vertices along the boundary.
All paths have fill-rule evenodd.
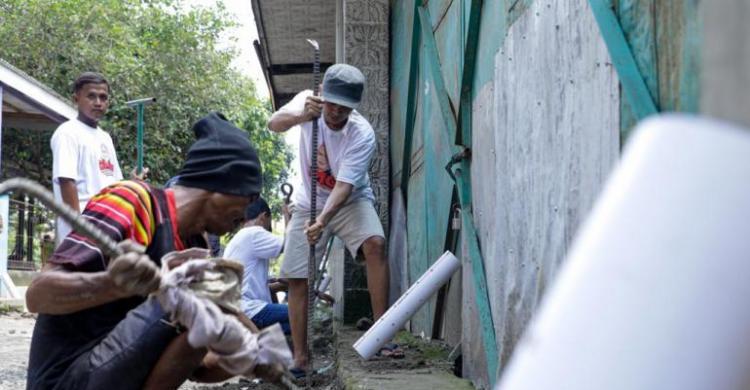
<path id="1" fill-rule="evenodd" d="M 655 0 L 619 0 L 616 8 L 638 71 L 646 82 L 651 99 L 658 101 L 655 7 Z M 621 96 L 624 96 L 624 92 L 621 92 Z M 620 101 L 620 145 L 624 145 L 638 118 L 626 99 Z"/>

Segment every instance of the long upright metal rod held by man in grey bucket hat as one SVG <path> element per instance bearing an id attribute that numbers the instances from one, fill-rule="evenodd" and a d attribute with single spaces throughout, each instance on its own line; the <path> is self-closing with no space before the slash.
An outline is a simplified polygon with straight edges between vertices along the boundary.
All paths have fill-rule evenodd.
<path id="1" fill-rule="evenodd" d="M 313 62 L 313 95 L 318 96 L 318 85 L 320 84 L 320 46 L 317 41 L 308 39 L 315 52 Z M 312 142 L 310 151 L 310 225 L 315 224 L 316 207 L 318 200 L 318 118 L 313 119 L 312 123 Z M 313 356 L 312 356 L 312 339 L 313 339 L 313 313 L 315 312 L 315 244 L 310 244 L 310 255 L 307 259 L 307 371 L 306 387 L 312 388 L 313 376 Z"/>

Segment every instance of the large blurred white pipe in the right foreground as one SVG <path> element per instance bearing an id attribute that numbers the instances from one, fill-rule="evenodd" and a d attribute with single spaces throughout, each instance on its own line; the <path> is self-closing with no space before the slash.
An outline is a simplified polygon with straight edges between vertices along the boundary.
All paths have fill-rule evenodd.
<path id="1" fill-rule="evenodd" d="M 650 119 L 498 386 L 750 388 L 750 132 Z"/>

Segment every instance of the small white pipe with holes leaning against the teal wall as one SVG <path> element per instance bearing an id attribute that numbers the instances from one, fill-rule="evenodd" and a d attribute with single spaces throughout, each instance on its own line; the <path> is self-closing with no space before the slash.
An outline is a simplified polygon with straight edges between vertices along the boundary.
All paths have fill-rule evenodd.
<path id="1" fill-rule="evenodd" d="M 437 261 L 383 314 L 362 337 L 354 343 L 354 349 L 365 359 L 371 358 L 389 342 L 406 321 L 448 282 L 451 275 L 461 268 L 461 262 L 446 251 Z"/>

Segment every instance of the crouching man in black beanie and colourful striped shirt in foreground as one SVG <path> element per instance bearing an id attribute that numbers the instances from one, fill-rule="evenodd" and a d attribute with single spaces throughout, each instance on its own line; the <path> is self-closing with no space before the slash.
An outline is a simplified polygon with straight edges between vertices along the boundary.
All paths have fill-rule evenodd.
<path id="1" fill-rule="evenodd" d="M 146 296 L 159 285 L 165 254 L 205 248 L 204 231 L 239 226 L 260 193 L 261 168 L 247 134 L 221 114 L 199 120 L 193 131 L 198 139 L 176 186 L 119 182 L 86 206 L 86 220 L 116 242 L 127 240 L 124 255 L 110 260 L 73 232 L 33 280 L 26 304 L 39 316 L 27 389 L 176 389 L 189 377 L 216 378 L 207 370 L 220 368 L 203 364 L 212 353 L 191 346 L 188 332 Z"/>

